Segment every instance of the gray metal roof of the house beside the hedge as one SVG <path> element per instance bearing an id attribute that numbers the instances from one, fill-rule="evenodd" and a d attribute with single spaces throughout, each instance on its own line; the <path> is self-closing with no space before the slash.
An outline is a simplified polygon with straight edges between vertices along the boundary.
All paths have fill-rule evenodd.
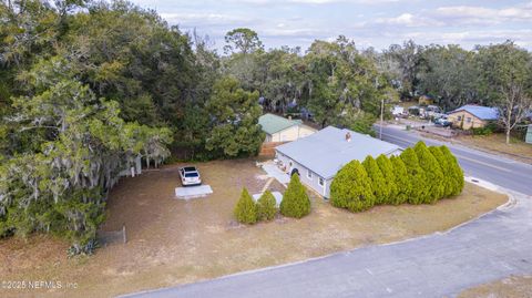
<path id="1" fill-rule="evenodd" d="M 351 141 L 346 141 L 346 134 L 351 134 Z M 352 160 L 362 162 L 368 155 L 389 155 L 401 148 L 395 144 L 380 141 L 366 134 L 334 126 L 283 144 L 275 148 L 290 157 L 323 178 L 331 178 Z"/>

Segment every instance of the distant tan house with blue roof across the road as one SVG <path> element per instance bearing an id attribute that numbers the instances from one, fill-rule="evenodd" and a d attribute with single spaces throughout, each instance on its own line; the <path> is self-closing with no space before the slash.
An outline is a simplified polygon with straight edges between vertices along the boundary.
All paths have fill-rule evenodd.
<path id="1" fill-rule="evenodd" d="M 448 113 L 452 126 L 462 130 L 484 127 L 488 123 L 497 121 L 499 112 L 495 107 L 467 104 Z"/>

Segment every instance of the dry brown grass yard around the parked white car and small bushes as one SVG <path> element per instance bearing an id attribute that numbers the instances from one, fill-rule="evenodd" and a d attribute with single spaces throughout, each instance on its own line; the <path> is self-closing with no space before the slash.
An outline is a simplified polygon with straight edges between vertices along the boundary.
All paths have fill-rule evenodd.
<path id="1" fill-rule="evenodd" d="M 125 245 L 69 259 L 68 244 L 50 236 L 0 240 L 2 279 L 76 282 L 75 289 L 0 288 L 0 297 L 112 297 L 188 284 L 447 230 L 508 201 L 468 183 L 460 196 L 436 205 L 377 206 L 351 214 L 310 193 L 313 210 L 303 219 L 278 217 L 242 226 L 233 219 L 242 187 L 258 193 L 265 173 L 249 160 L 197 166 L 214 194 L 188 202 L 173 195 L 177 165 L 120 182 L 111 193 L 103 229 L 125 224 Z M 284 189 L 278 184 L 272 187 Z"/>

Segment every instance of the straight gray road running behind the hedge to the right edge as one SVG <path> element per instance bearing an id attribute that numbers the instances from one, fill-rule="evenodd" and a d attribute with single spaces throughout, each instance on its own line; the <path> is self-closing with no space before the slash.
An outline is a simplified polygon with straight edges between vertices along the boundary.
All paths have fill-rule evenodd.
<path id="1" fill-rule="evenodd" d="M 460 145 L 420 137 L 416 132 L 393 127 L 382 127 L 382 140 L 401 147 L 413 146 L 420 140 L 427 145 L 446 144 L 458 157 L 467 176 L 478 177 L 515 192 L 532 195 L 532 165 Z"/>

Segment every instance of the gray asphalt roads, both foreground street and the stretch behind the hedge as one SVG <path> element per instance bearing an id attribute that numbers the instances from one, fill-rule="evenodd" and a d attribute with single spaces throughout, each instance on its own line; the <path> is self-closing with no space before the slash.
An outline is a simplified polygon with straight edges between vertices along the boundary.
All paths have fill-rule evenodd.
<path id="1" fill-rule="evenodd" d="M 383 140 L 411 146 L 419 137 L 385 129 Z M 467 175 L 532 195 L 532 166 L 450 148 Z M 532 198 L 519 193 L 513 205 L 447 233 L 125 297 L 453 297 L 509 275 L 532 274 Z"/>

